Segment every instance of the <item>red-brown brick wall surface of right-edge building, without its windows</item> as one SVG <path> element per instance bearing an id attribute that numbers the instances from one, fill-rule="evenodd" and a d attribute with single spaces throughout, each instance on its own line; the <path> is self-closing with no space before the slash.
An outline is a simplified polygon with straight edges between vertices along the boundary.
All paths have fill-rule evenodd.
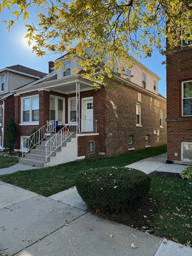
<path id="1" fill-rule="evenodd" d="M 174 161 L 181 160 L 181 142 L 192 141 L 192 118 L 181 116 L 181 82 L 185 80 L 192 80 L 190 48 L 167 56 L 167 158 Z"/>

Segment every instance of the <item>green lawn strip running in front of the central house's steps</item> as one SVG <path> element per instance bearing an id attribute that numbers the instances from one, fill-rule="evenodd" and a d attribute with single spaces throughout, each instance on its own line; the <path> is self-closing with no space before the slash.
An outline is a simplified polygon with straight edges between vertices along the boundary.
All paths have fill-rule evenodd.
<path id="1" fill-rule="evenodd" d="M 1 175 L 0 180 L 48 197 L 74 186 L 76 175 L 82 170 L 110 166 L 122 167 L 164 152 L 167 152 L 166 145 L 107 158 L 85 159 L 54 167 L 18 171 Z"/>

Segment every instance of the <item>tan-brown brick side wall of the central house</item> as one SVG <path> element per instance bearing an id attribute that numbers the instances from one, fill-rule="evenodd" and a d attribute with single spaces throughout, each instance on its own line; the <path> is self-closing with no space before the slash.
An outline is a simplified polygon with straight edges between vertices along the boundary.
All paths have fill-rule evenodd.
<path id="1" fill-rule="evenodd" d="M 165 100 L 124 85 L 106 91 L 106 155 L 128 152 L 129 135 L 134 135 L 135 150 L 145 148 L 146 135 L 151 147 L 167 144 Z M 142 127 L 136 127 L 136 103 L 141 104 Z M 160 110 L 164 128 L 160 128 Z"/>

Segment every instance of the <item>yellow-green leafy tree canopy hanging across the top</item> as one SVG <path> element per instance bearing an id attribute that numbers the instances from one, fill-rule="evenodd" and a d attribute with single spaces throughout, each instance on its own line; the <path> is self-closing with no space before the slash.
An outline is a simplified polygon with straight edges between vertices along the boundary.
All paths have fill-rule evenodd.
<path id="1" fill-rule="evenodd" d="M 131 55 L 150 57 L 155 48 L 164 54 L 164 38 L 169 50 L 182 47 L 182 39 L 192 40 L 191 0 L 3 0 L 0 11 L 8 8 L 13 14 L 12 20 L 4 21 L 7 29 L 18 18 L 29 18 L 31 6 L 41 8 L 38 27 L 26 24 L 29 44 L 36 42 L 33 51 L 38 56 L 70 51 L 70 57 L 75 51 L 88 57 L 86 49 L 92 47 L 92 60 L 81 62 L 91 79 L 96 69 L 97 79 L 103 81 L 103 71 L 110 77 L 117 58 L 131 66 Z"/>

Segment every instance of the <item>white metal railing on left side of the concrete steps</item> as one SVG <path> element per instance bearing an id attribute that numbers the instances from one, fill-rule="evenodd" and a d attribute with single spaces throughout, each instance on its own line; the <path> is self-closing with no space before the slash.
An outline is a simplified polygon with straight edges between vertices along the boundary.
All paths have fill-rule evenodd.
<path id="1" fill-rule="evenodd" d="M 47 121 L 46 125 L 21 142 L 22 158 L 34 146 L 40 145 L 41 140 L 43 140 L 47 135 L 49 135 L 51 132 L 55 132 L 55 127 L 53 125 L 54 121 L 55 120 Z"/>

